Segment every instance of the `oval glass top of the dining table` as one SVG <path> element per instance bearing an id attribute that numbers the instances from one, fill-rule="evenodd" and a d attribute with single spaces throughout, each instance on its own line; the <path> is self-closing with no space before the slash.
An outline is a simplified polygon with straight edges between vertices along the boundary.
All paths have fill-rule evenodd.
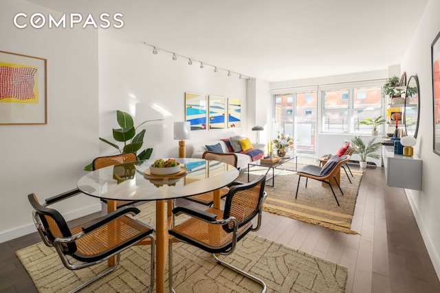
<path id="1" fill-rule="evenodd" d="M 225 187 L 238 176 L 236 167 L 204 159 L 176 159 L 181 170 L 155 176 L 149 167 L 154 159 L 97 169 L 78 180 L 78 189 L 107 200 L 167 200 L 203 194 Z"/>

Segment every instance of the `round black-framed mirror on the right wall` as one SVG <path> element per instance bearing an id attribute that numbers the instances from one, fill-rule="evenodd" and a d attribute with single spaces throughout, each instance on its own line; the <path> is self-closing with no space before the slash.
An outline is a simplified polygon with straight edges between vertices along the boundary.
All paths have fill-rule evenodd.
<path id="1" fill-rule="evenodd" d="M 417 75 L 411 75 L 406 86 L 405 99 L 405 128 L 406 135 L 417 137 L 419 130 L 420 96 L 419 79 Z"/>

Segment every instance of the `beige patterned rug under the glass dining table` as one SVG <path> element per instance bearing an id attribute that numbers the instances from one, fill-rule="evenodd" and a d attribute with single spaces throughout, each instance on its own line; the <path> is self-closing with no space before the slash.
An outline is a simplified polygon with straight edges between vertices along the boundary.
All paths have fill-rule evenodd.
<path id="1" fill-rule="evenodd" d="M 154 203 L 140 207 L 136 218 L 154 219 Z M 154 224 L 154 222 L 149 222 Z M 134 246 L 121 255 L 118 268 L 81 292 L 146 292 L 149 286 L 149 246 Z M 261 286 L 218 265 L 210 254 L 179 243 L 173 245 L 174 286 L 185 292 L 260 292 Z M 93 269 L 67 270 L 54 248 L 40 242 L 17 251 L 21 263 L 39 292 L 68 292 L 100 272 Z M 347 268 L 282 244 L 249 234 L 234 253 L 225 257 L 232 265 L 265 281 L 267 292 L 344 292 Z M 168 278 L 166 278 L 168 279 Z"/>

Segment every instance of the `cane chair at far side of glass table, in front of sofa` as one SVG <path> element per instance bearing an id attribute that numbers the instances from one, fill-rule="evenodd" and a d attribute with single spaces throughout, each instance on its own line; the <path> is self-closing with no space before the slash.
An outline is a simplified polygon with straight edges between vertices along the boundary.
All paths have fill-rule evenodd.
<path id="1" fill-rule="evenodd" d="M 237 163 L 236 154 L 232 154 L 232 153 L 204 152 L 202 158 L 205 160 L 227 163 L 228 165 L 232 165 L 234 167 L 236 167 L 236 163 Z M 228 187 L 221 188 L 220 198 L 224 198 L 226 194 L 228 194 L 228 191 L 229 191 Z M 197 196 L 190 196 L 185 199 L 210 207 L 214 203 L 214 191 L 206 192 L 204 194 L 197 194 Z"/>

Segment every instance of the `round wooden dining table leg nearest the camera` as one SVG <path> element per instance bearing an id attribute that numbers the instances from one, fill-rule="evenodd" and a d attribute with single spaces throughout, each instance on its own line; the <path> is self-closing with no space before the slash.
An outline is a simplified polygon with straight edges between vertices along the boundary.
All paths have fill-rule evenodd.
<path id="1" fill-rule="evenodd" d="M 165 266 L 168 253 L 168 222 L 165 200 L 156 201 L 156 292 L 165 292 Z"/>

